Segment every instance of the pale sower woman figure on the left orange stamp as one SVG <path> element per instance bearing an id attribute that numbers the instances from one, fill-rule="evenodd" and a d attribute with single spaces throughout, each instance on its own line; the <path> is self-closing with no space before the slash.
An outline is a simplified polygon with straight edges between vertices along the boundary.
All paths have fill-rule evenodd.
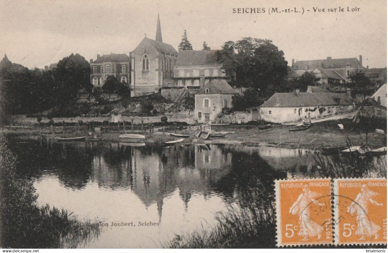
<path id="1" fill-rule="evenodd" d="M 311 203 L 317 204 L 319 206 L 324 206 L 324 204 L 316 201 L 315 198 L 318 197 L 317 192 L 313 192 L 308 188 L 308 185 L 303 185 L 303 193 L 301 193 L 298 199 L 289 209 L 289 212 L 293 215 L 298 213 L 299 216 L 299 232 L 298 236 L 303 236 L 303 241 L 307 241 L 308 237 L 318 236 L 320 239 L 320 234 L 323 231 L 323 227 L 315 223 L 310 218 L 310 209 L 308 205 Z"/>

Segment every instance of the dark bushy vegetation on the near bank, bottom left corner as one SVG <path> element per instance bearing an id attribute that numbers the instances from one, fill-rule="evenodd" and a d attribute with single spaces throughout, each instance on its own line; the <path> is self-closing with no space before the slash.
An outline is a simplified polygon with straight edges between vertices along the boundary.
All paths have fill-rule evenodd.
<path id="1" fill-rule="evenodd" d="M 39 207 L 32 181 L 16 174 L 16 163 L 0 136 L 1 248 L 76 248 L 99 236 L 98 223 L 48 204 Z"/>

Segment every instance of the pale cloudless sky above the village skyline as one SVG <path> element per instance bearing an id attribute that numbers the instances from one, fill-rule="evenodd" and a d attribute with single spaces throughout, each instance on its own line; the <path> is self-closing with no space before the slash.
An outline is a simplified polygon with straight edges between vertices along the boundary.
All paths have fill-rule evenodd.
<path id="1" fill-rule="evenodd" d="M 266 38 L 289 65 L 362 55 L 365 67 L 387 66 L 386 0 L 0 0 L 0 59 L 43 68 L 71 53 L 128 55 L 145 34 L 155 39 L 158 13 L 163 42 L 177 50 L 187 30 L 194 50 Z"/>

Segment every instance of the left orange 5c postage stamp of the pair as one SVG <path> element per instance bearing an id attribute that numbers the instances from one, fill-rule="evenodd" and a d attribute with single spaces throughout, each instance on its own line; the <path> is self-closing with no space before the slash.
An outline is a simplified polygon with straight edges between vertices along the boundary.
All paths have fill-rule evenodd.
<path id="1" fill-rule="evenodd" d="M 330 179 L 275 181 L 277 246 L 333 243 Z"/>

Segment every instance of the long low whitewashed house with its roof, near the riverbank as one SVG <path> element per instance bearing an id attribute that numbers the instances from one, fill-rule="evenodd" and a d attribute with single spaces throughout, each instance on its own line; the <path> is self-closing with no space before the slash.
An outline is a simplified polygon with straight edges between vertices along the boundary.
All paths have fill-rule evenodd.
<path id="1" fill-rule="evenodd" d="M 353 98 L 347 93 L 275 93 L 259 107 L 259 119 L 274 123 L 298 122 L 349 112 L 354 106 Z"/>

